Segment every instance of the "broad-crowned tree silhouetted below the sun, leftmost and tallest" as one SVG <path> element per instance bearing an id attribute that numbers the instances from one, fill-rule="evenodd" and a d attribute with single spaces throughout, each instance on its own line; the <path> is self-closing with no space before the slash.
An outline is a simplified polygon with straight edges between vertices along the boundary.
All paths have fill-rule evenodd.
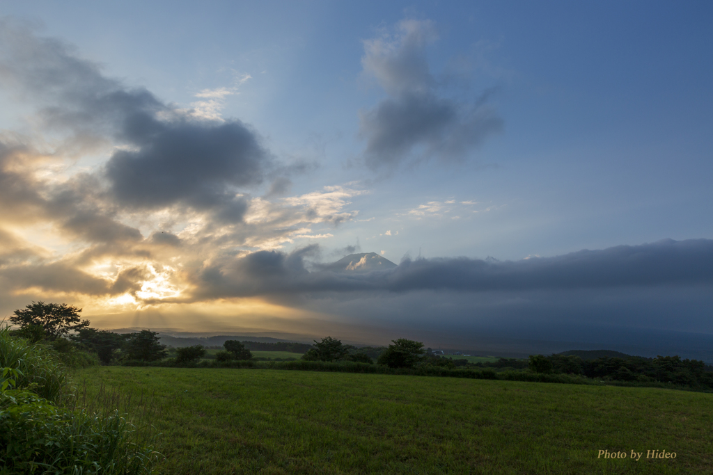
<path id="1" fill-rule="evenodd" d="M 13 325 L 25 328 L 29 325 L 40 325 L 47 340 L 56 340 L 72 330 L 87 328 L 89 320 L 81 320 L 79 313 L 82 309 L 67 305 L 66 303 L 35 302 L 24 309 L 14 311 L 10 317 Z"/>

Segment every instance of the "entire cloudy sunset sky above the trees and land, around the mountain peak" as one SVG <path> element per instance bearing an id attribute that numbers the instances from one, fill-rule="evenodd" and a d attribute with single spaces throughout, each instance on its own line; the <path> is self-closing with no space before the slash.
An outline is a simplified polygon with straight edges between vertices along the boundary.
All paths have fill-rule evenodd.
<path id="1" fill-rule="evenodd" d="M 706 347 L 712 19 L 705 1 L 0 0 L 0 315 Z M 369 252 L 398 266 L 327 265 Z"/>

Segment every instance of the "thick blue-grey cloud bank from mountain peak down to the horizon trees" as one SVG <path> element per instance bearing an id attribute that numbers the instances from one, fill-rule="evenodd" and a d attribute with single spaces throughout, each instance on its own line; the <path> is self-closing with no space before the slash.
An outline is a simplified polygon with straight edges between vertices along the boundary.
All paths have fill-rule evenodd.
<path id="1" fill-rule="evenodd" d="M 404 259 L 362 274 L 310 272 L 324 268 L 309 265 L 313 253 L 225 259 L 194 274 L 188 300 L 262 296 L 371 329 L 366 343 L 404 337 L 501 353 L 610 348 L 713 361 L 709 349 L 691 353 L 691 335 L 679 335 L 713 334 L 710 239 L 522 261 Z M 662 345 L 667 338 L 678 340 Z"/>

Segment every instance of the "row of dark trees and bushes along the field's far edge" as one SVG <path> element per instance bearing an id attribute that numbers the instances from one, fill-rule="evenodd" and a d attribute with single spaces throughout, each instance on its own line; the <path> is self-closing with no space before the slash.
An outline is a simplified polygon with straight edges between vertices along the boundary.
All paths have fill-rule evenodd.
<path id="1" fill-rule="evenodd" d="M 82 320 L 81 308 L 64 303 L 33 302 L 26 308 L 15 310 L 10 321 L 18 326 L 13 333 L 35 343 L 45 341 L 58 353 L 76 355 L 81 350 L 96 353 L 103 364 L 132 361 L 158 362 L 168 356 L 166 346 L 158 335 L 150 330 L 118 334 L 91 328 L 88 320 Z M 682 360 L 679 356 L 646 358 L 620 354 L 583 359 L 579 355 L 531 355 L 528 360 L 500 358 L 496 362 L 471 363 L 466 359 L 453 360 L 431 353 L 424 344 L 398 338 L 387 347 L 356 348 L 345 345 L 337 338 L 327 336 L 313 345 L 305 343 L 262 343 L 227 340 L 222 350 L 216 353 L 218 363 L 252 360 L 250 350 L 292 351 L 302 353 L 302 360 L 314 362 L 356 362 L 368 365 L 384 365 L 392 369 L 414 367 L 441 367 L 443 370 L 461 367 L 492 368 L 493 370 L 526 371 L 550 375 L 573 375 L 593 380 L 629 383 L 660 382 L 692 387 L 699 390 L 713 389 L 713 367 L 699 360 Z M 173 351 L 173 349 L 172 349 Z M 202 345 L 175 349 L 171 361 L 178 365 L 194 364 L 205 356 Z"/>

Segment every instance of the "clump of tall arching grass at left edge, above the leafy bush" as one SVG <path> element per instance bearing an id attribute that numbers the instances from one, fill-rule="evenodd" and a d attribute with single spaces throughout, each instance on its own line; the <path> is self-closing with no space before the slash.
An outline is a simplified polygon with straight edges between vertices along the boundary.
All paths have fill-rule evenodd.
<path id="1" fill-rule="evenodd" d="M 31 387 L 40 397 L 59 402 L 66 394 L 67 377 L 57 356 L 39 343 L 10 335 L 0 328 L 0 368 L 18 371 L 16 387 Z"/>

